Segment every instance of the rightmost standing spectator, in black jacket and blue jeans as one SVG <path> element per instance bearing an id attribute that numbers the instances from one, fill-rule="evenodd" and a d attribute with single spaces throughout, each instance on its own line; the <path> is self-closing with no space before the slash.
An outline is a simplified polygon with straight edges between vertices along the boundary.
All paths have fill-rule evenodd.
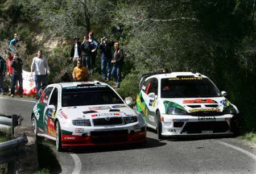
<path id="1" fill-rule="evenodd" d="M 114 49 L 115 49 L 115 53 L 111 61 L 111 63 L 113 64 L 111 75 L 112 77 L 115 78 L 115 83 L 116 83 L 115 88 L 119 88 L 121 77 L 122 77 L 121 70 L 122 70 L 124 55 L 123 55 L 122 49 L 119 48 L 119 44 L 117 42 L 114 44 Z"/>

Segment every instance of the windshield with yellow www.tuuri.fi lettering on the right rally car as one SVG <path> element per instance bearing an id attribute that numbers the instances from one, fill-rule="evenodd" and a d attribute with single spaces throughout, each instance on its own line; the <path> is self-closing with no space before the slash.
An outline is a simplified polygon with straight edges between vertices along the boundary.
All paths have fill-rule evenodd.
<path id="1" fill-rule="evenodd" d="M 162 98 L 221 97 L 220 91 L 202 77 L 163 78 Z"/>

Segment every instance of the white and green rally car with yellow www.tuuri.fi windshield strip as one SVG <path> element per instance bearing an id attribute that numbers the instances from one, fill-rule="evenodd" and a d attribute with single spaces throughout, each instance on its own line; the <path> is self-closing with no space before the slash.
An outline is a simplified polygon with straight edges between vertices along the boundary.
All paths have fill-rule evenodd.
<path id="1" fill-rule="evenodd" d="M 200 73 L 143 74 L 134 110 L 146 126 L 163 136 L 232 135 L 238 130 L 237 107 Z"/>

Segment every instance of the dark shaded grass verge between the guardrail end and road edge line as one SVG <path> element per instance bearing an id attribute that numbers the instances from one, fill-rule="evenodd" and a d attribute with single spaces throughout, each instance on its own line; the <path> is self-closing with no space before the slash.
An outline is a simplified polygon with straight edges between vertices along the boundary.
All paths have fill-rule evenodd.
<path id="1" fill-rule="evenodd" d="M 39 171 L 37 173 L 60 173 L 59 161 L 56 159 L 55 153 L 51 148 L 44 143 L 38 143 L 37 146 L 39 162 Z"/>

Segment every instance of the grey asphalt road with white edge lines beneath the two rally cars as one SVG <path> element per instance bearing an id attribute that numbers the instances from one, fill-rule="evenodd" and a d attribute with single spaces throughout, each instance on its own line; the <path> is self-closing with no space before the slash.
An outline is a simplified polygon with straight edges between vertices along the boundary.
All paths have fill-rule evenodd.
<path id="1" fill-rule="evenodd" d="M 33 101 L 0 97 L 0 113 L 30 125 Z M 22 99 L 26 100 L 26 99 Z M 55 150 L 55 142 L 46 140 Z M 142 146 L 56 152 L 61 173 L 256 173 L 256 149 L 236 138 L 161 140 L 147 131 Z"/>

